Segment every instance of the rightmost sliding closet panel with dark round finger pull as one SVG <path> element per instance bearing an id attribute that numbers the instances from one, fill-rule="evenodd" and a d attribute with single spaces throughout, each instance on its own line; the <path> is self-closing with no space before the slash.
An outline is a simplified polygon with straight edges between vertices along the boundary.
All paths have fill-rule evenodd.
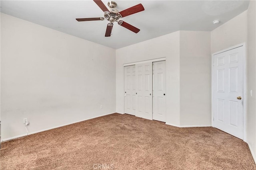
<path id="1" fill-rule="evenodd" d="M 153 120 L 166 122 L 166 64 L 153 62 Z"/>

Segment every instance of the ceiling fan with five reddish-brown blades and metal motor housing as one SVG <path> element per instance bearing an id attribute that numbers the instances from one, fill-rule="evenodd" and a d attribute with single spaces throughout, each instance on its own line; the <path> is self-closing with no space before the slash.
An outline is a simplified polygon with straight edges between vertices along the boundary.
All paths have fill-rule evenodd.
<path id="1" fill-rule="evenodd" d="M 107 8 L 101 0 L 93 0 L 93 1 L 104 12 L 104 18 L 103 17 L 100 17 L 100 18 L 76 18 L 77 21 L 97 21 L 97 20 L 101 20 L 101 21 L 108 20 L 108 21 L 110 21 L 110 23 L 108 23 L 108 25 L 107 25 L 105 37 L 110 37 L 111 32 L 112 32 L 113 23 L 115 21 L 118 22 L 119 25 L 131 30 L 134 33 L 138 33 L 140 31 L 140 29 L 130 25 L 129 23 L 126 23 L 124 21 L 118 21 L 118 20 L 120 18 L 124 18 L 126 16 L 135 14 L 137 12 L 144 11 L 144 7 L 142 6 L 142 4 L 132 6 L 130 8 L 127 8 L 126 10 L 123 10 L 123 11 L 119 12 L 118 10 L 115 9 L 117 4 L 114 1 L 108 2 L 108 7 L 109 8 Z"/>

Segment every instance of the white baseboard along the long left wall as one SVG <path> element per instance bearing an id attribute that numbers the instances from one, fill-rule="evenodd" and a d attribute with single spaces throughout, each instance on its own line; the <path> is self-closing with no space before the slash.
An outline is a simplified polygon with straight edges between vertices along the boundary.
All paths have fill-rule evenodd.
<path id="1" fill-rule="evenodd" d="M 43 131 L 48 131 L 48 130 L 50 130 L 50 129 L 55 129 L 55 128 L 58 128 L 58 127 L 62 127 L 62 126 L 66 126 L 66 125 L 71 125 L 71 124 L 78 123 L 78 122 L 81 122 L 81 121 L 86 121 L 86 120 L 90 120 L 90 119 L 94 119 L 94 118 L 102 117 L 102 116 L 106 116 L 106 115 L 111 115 L 111 114 L 113 114 L 113 113 L 106 113 L 106 114 L 103 114 L 103 115 L 99 115 L 99 116 L 95 116 L 95 117 L 90 117 L 90 118 L 88 118 L 88 119 L 83 119 L 83 120 L 75 121 L 75 122 L 72 122 L 72 123 L 66 123 L 66 124 L 63 124 L 63 125 L 58 125 L 58 126 L 54 126 L 54 127 L 42 129 L 42 130 L 39 130 L 39 131 L 29 132 L 28 135 L 32 135 L 32 134 L 34 134 L 34 133 L 39 133 L 39 132 L 43 132 Z M 27 134 L 25 133 L 25 134 L 23 134 L 23 135 L 18 135 L 18 136 L 14 136 L 14 137 L 2 139 L 1 142 L 10 141 L 10 140 L 12 140 L 12 139 L 17 139 L 17 138 L 20 138 L 20 137 L 25 137 L 26 135 L 27 135 Z"/>

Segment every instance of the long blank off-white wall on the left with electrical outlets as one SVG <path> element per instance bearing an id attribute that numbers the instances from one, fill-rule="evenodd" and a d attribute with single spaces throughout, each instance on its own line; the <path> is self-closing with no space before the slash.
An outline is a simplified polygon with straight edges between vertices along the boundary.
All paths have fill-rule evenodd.
<path id="1" fill-rule="evenodd" d="M 1 14 L 2 139 L 116 111 L 115 50 Z M 103 109 L 100 109 L 100 105 Z"/>

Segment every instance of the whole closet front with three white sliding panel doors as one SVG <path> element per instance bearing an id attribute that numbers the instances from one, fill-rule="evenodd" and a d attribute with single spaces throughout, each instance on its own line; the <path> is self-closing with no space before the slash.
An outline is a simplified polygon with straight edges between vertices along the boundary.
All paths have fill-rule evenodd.
<path id="1" fill-rule="evenodd" d="M 124 113 L 166 122 L 166 64 L 124 66 Z"/>

